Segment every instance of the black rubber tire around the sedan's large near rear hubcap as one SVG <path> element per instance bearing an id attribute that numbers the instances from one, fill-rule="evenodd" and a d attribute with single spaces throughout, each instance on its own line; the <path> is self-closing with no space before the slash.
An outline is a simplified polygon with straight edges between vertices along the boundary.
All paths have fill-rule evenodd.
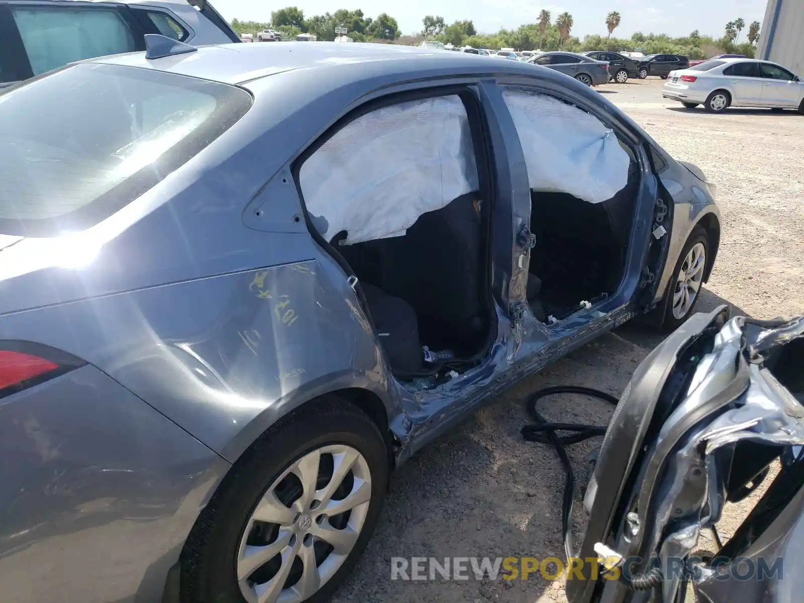
<path id="1" fill-rule="evenodd" d="M 355 547 L 306 603 L 329 600 L 371 539 L 388 484 L 388 449 L 382 433 L 365 412 L 336 396 L 307 404 L 279 421 L 226 475 L 196 521 L 182 552 L 182 603 L 244 603 L 235 572 L 245 524 L 265 490 L 293 461 L 328 444 L 346 444 L 358 450 L 371 471 L 371 501 Z"/>

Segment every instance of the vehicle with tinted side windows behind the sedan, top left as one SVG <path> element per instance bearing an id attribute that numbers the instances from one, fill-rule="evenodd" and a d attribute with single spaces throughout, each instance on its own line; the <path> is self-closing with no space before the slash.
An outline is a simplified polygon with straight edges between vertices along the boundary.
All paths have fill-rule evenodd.
<path id="1" fill-rule="evenodd" d="M 146 34 L 194 46 L 240 42 L 206 0 L 0 0 L 0 88 L 73 61 L 145 50 Z"/>

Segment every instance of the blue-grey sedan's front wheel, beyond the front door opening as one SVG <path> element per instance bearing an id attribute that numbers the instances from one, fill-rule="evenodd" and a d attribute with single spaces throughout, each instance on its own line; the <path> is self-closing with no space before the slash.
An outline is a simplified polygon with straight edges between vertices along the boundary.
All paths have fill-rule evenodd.
<path id="1" fill-rule="evenodd" d="M 662 329 L 675 330 L 690 318 L 698 302 L 709 256 L 709 239 L 701 226 L 692 229 L 667 283 L 667 304 Z"/>

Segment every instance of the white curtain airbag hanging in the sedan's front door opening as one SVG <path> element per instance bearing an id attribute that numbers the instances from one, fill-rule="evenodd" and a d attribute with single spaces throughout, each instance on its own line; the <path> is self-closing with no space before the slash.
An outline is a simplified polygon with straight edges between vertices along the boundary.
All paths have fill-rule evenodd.
<path id="1" fill-rule="evenodd" d="M 629 155 L 617 136 L 585 111 L 536 92 L 504 90 L 533 191 L 611 199 L 628 181 Z"/>

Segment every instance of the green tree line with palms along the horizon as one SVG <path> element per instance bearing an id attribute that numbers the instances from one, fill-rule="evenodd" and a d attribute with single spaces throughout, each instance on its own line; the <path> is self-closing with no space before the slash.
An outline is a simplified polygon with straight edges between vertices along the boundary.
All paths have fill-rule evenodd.
<path id="1" fill-rule="evenodd" d="M 743 18 L 729 21 L 724 27 L 724 35 L 717 38 L 700 35 L 698 30 L 678 38 L 667 34 L 644 34 L 637 32 L 630 38 L 617 38 L 614 31 L 621 24 L 621 14 L 616 10 L 605 16 L 601 32 L 605 35 L 586 35 L 579 39 L 572 35 L 574 25 L 572 14 L 564 12 L 552 18 L 548 10 L 539 13 L 537 23 L 527 23 L 517 29 L 501 29 L 494 34 L 482 34 L 471 20 L 445 23 L 443 17 L 426 15 L 422 19 L 422 30 L 416 35 L 401 36 L 396 19 L 386 13 L 376 18 L 367 17 L 363 10 L 336 10 L 334 13 L 317 14 L 305 17 L 297 6 L 288 6 L 271 14 L 270 23 L 232 20 L 232 27 L 239 34 L 256 34 L 263 29 L 276 29 L 285 36 L 295 37 L 299 33 L 312 33 L 319 40 L 333 40 L 335 27 L 346 27 L 348 36 L 356 42 L 395 42 L 415 44 L 422 39 L 435 39 L 454 46 L 472 46 L 498 50 L 511 47 L 516 50 L 613 50 L 641 51 L 646 55 L 665 52 L 687 55 L 691 59 L 705 59 L 720 53 L 736 53 L 753 56 L 759 39 L 760 24 L 755 21 L 746 30 Z M 605 28 L 605 29 L 604 29 Z M 745 35 L 743 31 L 745 30 Z"/>

